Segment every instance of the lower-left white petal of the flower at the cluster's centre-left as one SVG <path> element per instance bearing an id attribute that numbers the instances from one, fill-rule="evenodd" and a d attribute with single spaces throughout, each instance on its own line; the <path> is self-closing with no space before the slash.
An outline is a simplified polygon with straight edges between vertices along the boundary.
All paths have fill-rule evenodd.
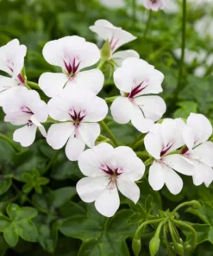
<path id="1" fill-rule="evenodd" d="M 53 124 L 47 131 L 47 144 L 54 150 L 61 149 L 74 131 L 72 123 Z"/>

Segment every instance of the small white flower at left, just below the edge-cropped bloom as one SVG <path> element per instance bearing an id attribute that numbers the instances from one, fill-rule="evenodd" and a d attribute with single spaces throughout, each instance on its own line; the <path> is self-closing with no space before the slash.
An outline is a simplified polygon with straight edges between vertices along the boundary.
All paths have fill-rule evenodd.
<path id="1" fill-rule="evenodd" d="M 47 104 L 41 100 L 39 93 L 18 87 L 16 93 L 11 93 L 3 103 L 3 112 L 6 113 L 5 122 L 12 125 L 24 125 L 13 134 L 13 139 L 28 147 L 34 143 L 37 128 L 46 137 L 46 131 L 41 123 L 48 117 Z"/>

